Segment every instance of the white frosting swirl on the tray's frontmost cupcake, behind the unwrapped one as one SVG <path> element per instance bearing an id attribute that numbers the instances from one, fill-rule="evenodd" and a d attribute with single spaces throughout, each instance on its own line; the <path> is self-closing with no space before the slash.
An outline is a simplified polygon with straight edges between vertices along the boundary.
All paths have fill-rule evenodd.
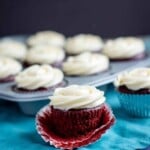
<path id="1" fill-rule="evenodd" d="M 38 88 L 49 88 L 63 81 L 61 70 L 49 65 L 33 65 L 20 72 L 15 80 L 18 88 L 35 90 Z"/>

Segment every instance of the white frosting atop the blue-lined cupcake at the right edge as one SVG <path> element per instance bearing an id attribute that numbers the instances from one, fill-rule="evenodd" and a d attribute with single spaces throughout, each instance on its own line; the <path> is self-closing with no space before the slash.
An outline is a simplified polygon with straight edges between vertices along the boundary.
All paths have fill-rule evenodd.
<path id="1" fill-rule="evenodd" d="M 118 75 L 114 84 L 116 87 L 126 86 L 133 91 L 150 89 L 150 68 L 137 68 L 123 72 Z"/>

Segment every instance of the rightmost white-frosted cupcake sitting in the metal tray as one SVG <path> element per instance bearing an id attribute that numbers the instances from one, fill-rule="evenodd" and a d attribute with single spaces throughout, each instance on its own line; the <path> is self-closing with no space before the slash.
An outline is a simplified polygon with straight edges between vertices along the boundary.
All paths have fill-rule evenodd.
<path id="1" fill-rule="evenodd" d="M 145 57 L 145 45 L 140 38 L 120 37 L 108 40 L 102 52 L 111 60 L 137 60 Z"/>

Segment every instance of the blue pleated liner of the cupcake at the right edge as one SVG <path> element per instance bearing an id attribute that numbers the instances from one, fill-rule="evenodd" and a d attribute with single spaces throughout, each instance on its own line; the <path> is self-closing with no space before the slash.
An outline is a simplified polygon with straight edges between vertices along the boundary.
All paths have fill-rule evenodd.
<path id="1" fill-rule="evenodd" d="M 121 107 L 136 117 L 150 117 L 150 94 L 117 92 Z"/>

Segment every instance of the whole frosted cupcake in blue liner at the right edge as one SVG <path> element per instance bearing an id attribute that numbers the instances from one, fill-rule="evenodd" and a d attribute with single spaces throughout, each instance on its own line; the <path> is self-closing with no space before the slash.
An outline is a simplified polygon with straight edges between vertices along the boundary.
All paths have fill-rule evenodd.
<path id="1" fill-rule="evenodd" d="M 126 112 L 137 117 L 150 117 L 150 68 L 123 72 L 114 83 Z"/>

